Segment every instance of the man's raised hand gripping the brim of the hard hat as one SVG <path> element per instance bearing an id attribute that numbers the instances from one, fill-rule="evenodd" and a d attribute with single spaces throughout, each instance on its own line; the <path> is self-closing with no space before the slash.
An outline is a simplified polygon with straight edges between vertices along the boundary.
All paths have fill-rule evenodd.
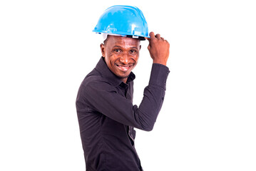
<path id="1" fill-rule="evenodd" d="M 150 38 L 147 38 L 149 41 L 148 51 L 151 58 L 153 58 L 153 63 L 160 63 L 166 66 L 170 44 L 164 38 L 160 37 L 160 34 L 155 35 L 155 33 L 150 32 L 149 35 Z"/>

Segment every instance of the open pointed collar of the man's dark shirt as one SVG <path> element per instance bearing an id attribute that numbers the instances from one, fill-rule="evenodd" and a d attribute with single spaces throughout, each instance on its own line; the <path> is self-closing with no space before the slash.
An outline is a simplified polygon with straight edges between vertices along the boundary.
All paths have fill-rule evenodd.
<path id="1" fill-rule="evenodd" d="M 108 68 L 104 58 L 101 57 L 100 61 L 98 61 L 96 65 L 96 70 L 101 73 L 101 76 L 106 78 L 113 86 L 119 86 L 123 81 L 118 78 L 112 71 Z M 133 81 L 135 79 L 135 75 L 133 72 L 130 72 L 128 76 L 127 82 Z"/>

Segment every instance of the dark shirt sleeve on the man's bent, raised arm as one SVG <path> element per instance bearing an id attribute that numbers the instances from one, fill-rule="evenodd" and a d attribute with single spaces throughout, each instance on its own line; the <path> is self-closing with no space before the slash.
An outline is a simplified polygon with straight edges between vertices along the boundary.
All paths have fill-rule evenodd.
<path id="1" fill-rule="evenodd" d="M 139 107 L 133 105 L 127 98 L 118 94 L 116 87 L 107 82 L 92 81 L 83 88 L 85 102 L 108 118 L 124 125 L 130 125 L 140 130 L 153 129 L 165 96 L 166 80 L 169 69 L 158 63 L 153 63 L 150 81 L 144 89 L 143 100 Z"/>

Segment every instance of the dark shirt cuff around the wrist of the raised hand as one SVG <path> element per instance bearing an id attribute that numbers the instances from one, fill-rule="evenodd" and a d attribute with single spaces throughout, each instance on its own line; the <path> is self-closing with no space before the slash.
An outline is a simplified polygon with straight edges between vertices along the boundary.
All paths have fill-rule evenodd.
<path id="1" fill-rule="evenodd" d="M 170 71 L 167 66 L 164 66 L 160 63 L 153 63 L 149 84 L 160 86 L 163 89 L 166 89 L 166 80 L 169 73 Z"/>

